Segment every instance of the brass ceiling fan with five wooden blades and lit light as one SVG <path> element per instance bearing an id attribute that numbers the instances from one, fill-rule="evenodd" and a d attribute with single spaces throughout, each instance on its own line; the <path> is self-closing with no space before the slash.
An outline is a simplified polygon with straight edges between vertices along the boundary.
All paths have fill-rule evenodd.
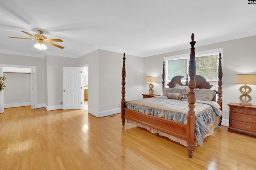
<path id="1" fill-rule="evenodd" d="M 44 50 L 47 49 L 46 45 L 44 45 L 44 42 L 47 43 L 47 44 L 53 45 L 53 46 L 55 46 L 55 47 L 58 47 L 58 48 L 60 48 L 60 49 L 64 49 L 64 47 L 50 42 L 50 41 L 63 42 L 61 39 L 47 39 L 46 36 L 42 35 L 42 34 L 44 33 L 44 31 L 42 31 L 42 30 L 38 30 L 38 32 L 39 32 L 40 34 L 35 34 L 35 35 L 32 35 L 32 34 L 26 32 L 26 31 L 21 31 L 21 32 L 30 35 L 30 36 L 33 37 L 34 39 L 32 39 L 32 38 L 21 38 L 21 37 L 9 37 L 9 38 L 19 38 L 19 39 L 37 40 L 38 42 L 34 45 L 34 47 L 36 47 L 37 49 L 40 49 L 40 51 L 41 51 L 42 49 L 44 49 Z"/>

